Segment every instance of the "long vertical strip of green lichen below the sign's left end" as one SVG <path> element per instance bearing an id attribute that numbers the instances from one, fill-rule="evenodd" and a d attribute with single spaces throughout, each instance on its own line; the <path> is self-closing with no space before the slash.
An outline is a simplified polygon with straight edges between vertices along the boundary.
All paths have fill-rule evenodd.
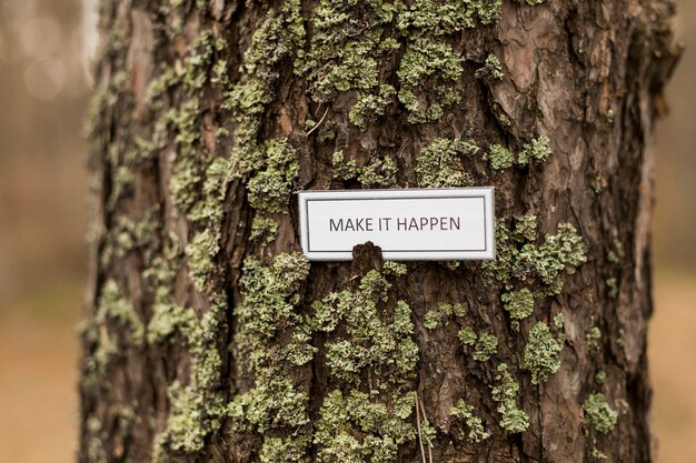
<path id="1" fill-rule="evenodd" d="M 294 459 L 311 442 L 308 395 L 290 376 L 291 369 L 307 364 L 316 352 L 310 326 L 296 311 L 308 273 L 309 262 L 300 253 L 278 254 L 271 265 L 248 256 L 242 269 L 232 353 L 253 386 L 232 399 L 227 416 L 233 429 L 261 435 L 264 461 L 302 461 Z M 290 335 L 289 341 L 278 333 Z M 276 437 L 281 432 L 287 437 Z"/>

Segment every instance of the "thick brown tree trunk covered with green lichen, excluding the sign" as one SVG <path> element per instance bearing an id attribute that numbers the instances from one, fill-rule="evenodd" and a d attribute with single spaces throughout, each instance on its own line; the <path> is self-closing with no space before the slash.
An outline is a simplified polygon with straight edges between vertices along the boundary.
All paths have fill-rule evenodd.
<path id="1" fill-rule="evenodd" d="M 668 0 L 103 0 L 80 462 L 650 462 Z M 311 262 L 298 190 L 496 189 Z"/>

